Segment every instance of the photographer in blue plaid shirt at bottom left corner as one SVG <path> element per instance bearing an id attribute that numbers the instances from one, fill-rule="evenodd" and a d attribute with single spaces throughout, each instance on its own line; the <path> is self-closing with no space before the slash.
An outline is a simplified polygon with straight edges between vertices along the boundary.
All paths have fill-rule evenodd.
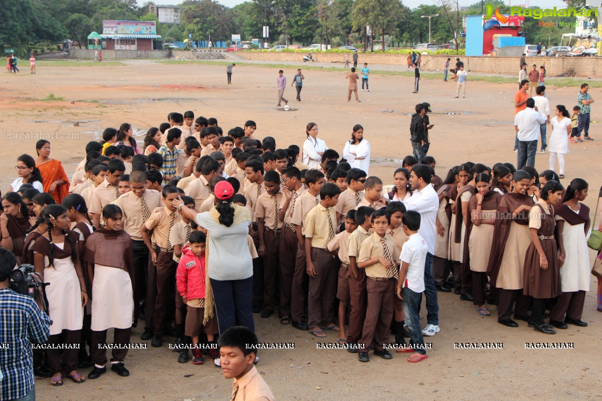
<path id="1" fill-rule="evenodd" d="M 36 301 L 8 288 L 9 275 L 17 259 L 0 248 L 0 400 L 33 401 L 33 355 L 31 342 L 45 343 L 50 318 Z"/>

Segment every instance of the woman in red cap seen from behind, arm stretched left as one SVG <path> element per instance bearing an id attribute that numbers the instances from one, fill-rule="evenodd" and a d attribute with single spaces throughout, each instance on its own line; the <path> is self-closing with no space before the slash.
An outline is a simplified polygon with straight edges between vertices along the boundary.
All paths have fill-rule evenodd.
<path id="1" fill-rule="evenodd" d="M 247 244 L 251 224 L 249 209 L 232 203 L 235 192 L 227 181 L 217 183 L 213 192 L 216 206 L 209 212 L 197 214 L 184 206 L 180 198 L 174 201 L 182 216 L 207 230 L 208 283 L 205 285 L 203 324 L 213 315 L 214 300 L 220 334 L 232 326 L 246 326 L 255 331 L 253 261 Z"/>

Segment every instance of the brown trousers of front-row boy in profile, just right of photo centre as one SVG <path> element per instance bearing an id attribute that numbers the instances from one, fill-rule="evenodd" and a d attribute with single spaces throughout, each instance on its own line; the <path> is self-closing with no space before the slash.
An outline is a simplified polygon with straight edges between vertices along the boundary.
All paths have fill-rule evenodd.
<path id="1" fill-rule="evenodd" d="M 332 323 L 332 304 L 337 296 L 338 266 L 332 254 L 320 248 L 311 248 L 315 277 L 309 277 L 309 328 Z"/>

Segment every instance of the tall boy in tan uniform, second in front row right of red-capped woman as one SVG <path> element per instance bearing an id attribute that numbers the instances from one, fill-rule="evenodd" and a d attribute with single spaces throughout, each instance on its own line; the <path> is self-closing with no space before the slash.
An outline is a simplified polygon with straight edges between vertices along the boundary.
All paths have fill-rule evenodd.
<path id="1" fill-rule="evenodd" d="M 288 325 L 291 322 L 291 290 L 293 289 L 293 275 L 295 260 L 299 251 L 299 239 L 292 224 L 294 206 L 297 198 L 307 191 L 301 185 L 301 173 L 296 167 L 289 167 L 282 173 L 284 182 L 284 197 L 282 197 L 279 219 L 282 220 L 282 233 L 280 239 L 280 323 Z"/>

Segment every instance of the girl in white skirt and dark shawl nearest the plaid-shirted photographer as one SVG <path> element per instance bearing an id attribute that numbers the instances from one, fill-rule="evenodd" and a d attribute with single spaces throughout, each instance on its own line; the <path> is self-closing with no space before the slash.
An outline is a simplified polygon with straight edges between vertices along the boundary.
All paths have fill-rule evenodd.
<path id="1" fill-rule="evenodd" d="M 79 263 L 78 234 L 69 230 L 67 210 L 58 204 L 44 210 L 48 231 L 36 240 L 34 267 L 46 287 L 48 314 L 52 320 L 48 344 L 73 344 L 68 349 L 48 349 L 48 364 L 52 371 L 50 384 L 63 385 L 63 373 L 76 384 L 85 381 L 77 371 L 83 308 L 88 302 L 84 274 Z M 61 356 L 62 351 L 62 356 Z"/>

